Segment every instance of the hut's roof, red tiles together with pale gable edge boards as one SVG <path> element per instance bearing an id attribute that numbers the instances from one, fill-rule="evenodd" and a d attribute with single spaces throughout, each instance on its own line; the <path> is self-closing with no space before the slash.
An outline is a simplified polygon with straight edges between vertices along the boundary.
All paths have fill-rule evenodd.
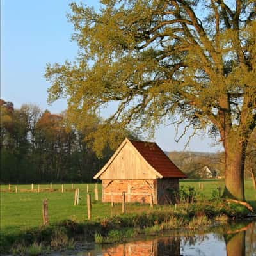
<path id="1" fill-rule="evenodd" d="M 156 173 L 158 178 L 186 178 L 187 176 L 182 173 L 175 164 L 172 163 L 170 158 L 164 154 L 163 150 L 158 147 L 156 143 L 147 141 L 136 141 L 125 139 L 120 147 L 116 150 L 113 156 L 109 159 L 108 163 L 98 172 L 93 179 L 97 179 L 108 169 L 108 166 L 114 161 L 115 157 L 118 155 L 120 150 L 124 147 L 126 143 L 131 143 L 131 145 L 136 149 L 136 151 L 145 159 L 145 161 L 152 166 L 154 173 Z"/>

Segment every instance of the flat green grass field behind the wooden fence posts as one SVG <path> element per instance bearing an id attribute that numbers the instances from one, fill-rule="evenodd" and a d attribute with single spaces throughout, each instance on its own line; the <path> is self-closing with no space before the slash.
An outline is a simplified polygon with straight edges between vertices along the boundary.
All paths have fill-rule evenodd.
<path id="1" fill-rule="evenodd" d="M 200 180 L 204 185 L 204 190 L 200 191 L 198 181 L 184 180 L 180 186 L 193 186 L 200 195 L 201 200 L 212 198 L 212 191 L 218 186 L 223 187 L 220 180 Z M 18 189 L 29 190 L 31 185 L 19 185 Z M 50 185 L 40 185 L 40 189 L 49 189 Z M 52 184 L 54 191 L 36 192 L 37 185 L 34 185 L 35 192 L 15 193 L 15 185 L 11 186 L 12 192 L 8 192 L 8 185 L 1 185 L 1 233 L 15 234 L 28 228 L 39 227 L 42 225 L 42 200 L 47 198 L 49 204 L 50 224 L 61 220 L 84 221 L 87 219 L 86 208 L 86 184 L 74 184 L 74 189 L 79 188 L 79 205 L 74 205 L 74 191 L 71 184 L 65 184 L 64 193 L 61 193 L 61 185 Z M 116 204 L 111 209 L 110 204 L 102 204 L 100 200 L 94 200 L 94 184 L 89 184 L 90 193 L 92 194 L 92 218 L 103 218 L 111 214 L 120 214 L 121 205 Z M 99 199 L 101 198 L 101 186 L 99 188 Z M 56 190 L 58 189 L 58 190 Z M 253 190 L 252 182 L 246 181 L 246 200 L 256 209 L 256 191 Z M 170 207 L 170 206 L 157 206 Z M 147 204 L 127 204 L 127 212 L 152 211 Z"/>

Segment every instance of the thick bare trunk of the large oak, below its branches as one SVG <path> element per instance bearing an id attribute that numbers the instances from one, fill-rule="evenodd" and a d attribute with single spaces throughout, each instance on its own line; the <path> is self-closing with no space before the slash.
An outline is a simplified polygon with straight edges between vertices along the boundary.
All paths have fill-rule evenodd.
<path id="1" fill-rule="evenodd" d="M 244 149 L 225 147 L 225 189 L 223 197 L 244 201 Z M 226 145 L 227 146 L 227 145 Z M 236 151 L 236 152 L 234 152 Z"/>

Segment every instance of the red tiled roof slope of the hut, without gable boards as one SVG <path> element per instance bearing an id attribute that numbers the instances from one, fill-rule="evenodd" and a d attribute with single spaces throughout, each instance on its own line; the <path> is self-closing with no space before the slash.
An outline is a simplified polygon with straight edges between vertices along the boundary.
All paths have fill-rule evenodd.
<path id="1" fill-rule="evenodd" d="M 187 176 L 179 170 L 170 158 L 156 143 L 145 141 L 131 141 L 132 145 L 140 152 L 147 162 L 164 178 L 186 178 Z"/>

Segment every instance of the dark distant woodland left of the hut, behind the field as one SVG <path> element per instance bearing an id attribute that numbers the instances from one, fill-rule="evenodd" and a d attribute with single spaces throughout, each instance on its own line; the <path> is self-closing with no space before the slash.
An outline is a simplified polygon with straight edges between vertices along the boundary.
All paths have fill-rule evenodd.
<path id="1" fill-rule="evenodd" d="M 66 113 L 53 114 L 38 106 L 0 100 L 1 182 L 90 182 L 113 151 L 106 147 L 102 158 L 84 140 L 93 125 L 77 129 Z"/>

